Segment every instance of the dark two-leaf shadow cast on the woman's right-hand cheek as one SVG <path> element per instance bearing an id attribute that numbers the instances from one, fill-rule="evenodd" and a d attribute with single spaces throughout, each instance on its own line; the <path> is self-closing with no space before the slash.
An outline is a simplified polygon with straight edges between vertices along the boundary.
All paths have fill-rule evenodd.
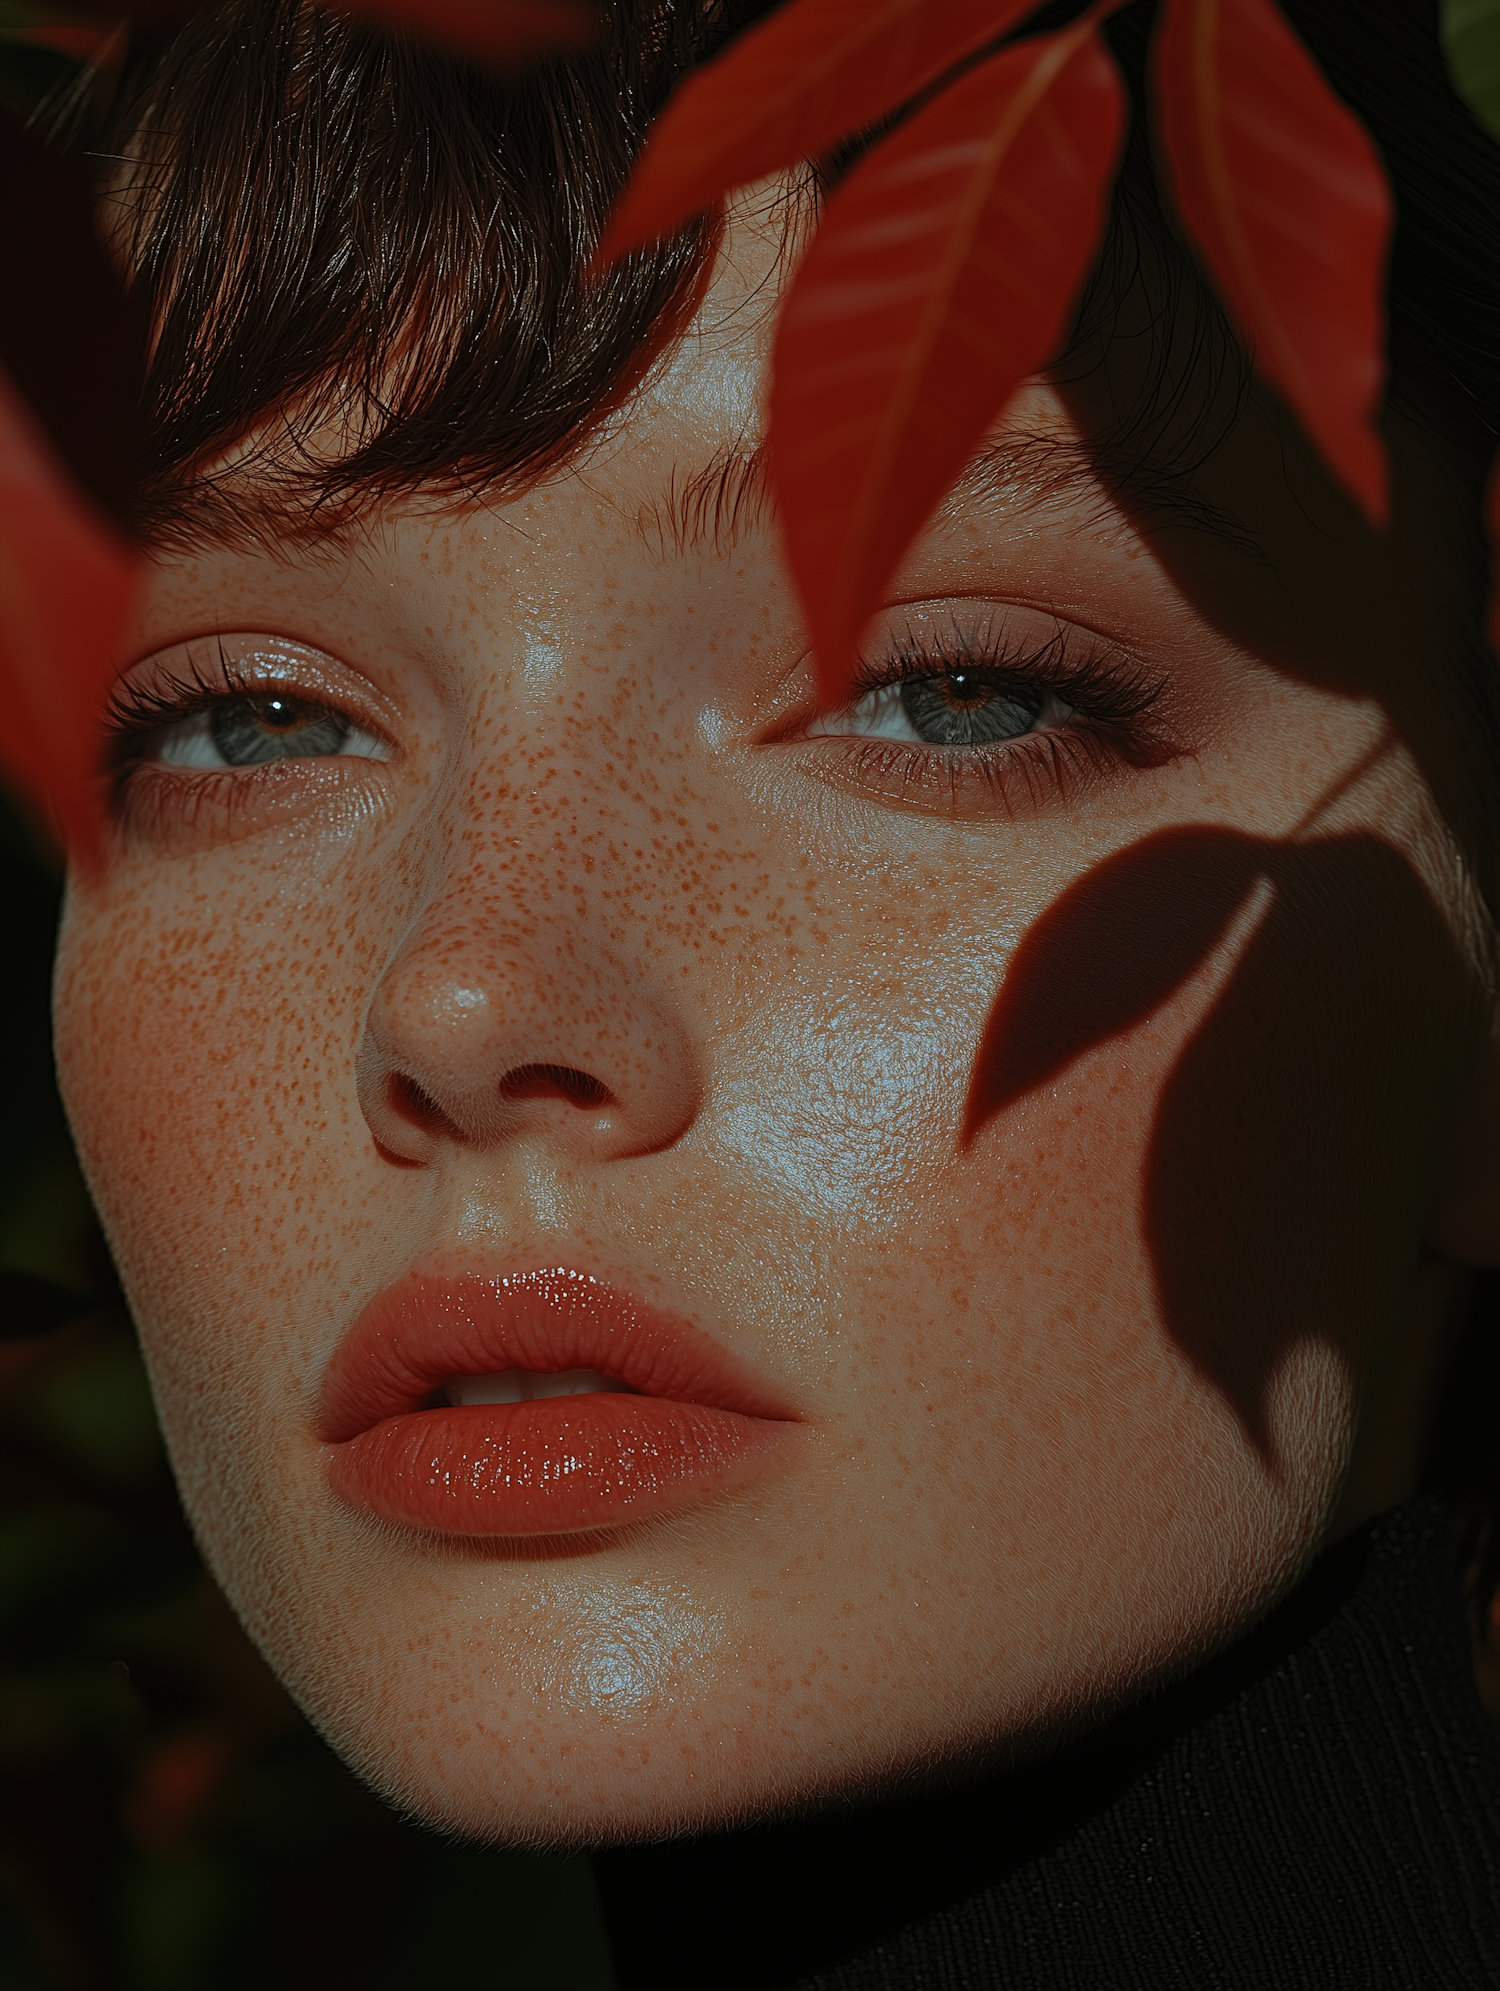
<path id="1" fill-rule="evenodd" d="M 962 1145 L 1149 1019 L 1237 918 L 1249 934 L 1155 1097 L 1139 1209 L 1165 1332 L 1275 1467 L 1285 1358 L 1307 1338 L 1349 1358 L 1402 1298 L 1480 1041 L 1474 976 L 1410 862 L 1369 832 L 1189 826 L 1096 864 L 1010 962 Z"/>

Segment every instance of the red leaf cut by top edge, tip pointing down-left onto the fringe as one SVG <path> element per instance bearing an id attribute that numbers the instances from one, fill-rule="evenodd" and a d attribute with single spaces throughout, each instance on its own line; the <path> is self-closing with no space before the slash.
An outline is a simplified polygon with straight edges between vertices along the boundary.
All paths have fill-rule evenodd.
<path id="1" fill-rule="evenodd" d="M 797 0 L 677 90 L 616 207 L 610 263 L 908 104 L 1038 0 Z"/>

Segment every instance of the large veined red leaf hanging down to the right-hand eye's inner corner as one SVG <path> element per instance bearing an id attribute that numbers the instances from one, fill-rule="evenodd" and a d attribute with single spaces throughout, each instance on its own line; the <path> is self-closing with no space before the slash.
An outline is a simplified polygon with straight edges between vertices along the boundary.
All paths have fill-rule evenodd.
<path id="1" fill-rule="evenodd" d="M 936 502 L 1058 348 L 1125 92 L 1080 22 L 974 70 L 829 203 L 775 350 L 771 476 L 823 693 Z"/>

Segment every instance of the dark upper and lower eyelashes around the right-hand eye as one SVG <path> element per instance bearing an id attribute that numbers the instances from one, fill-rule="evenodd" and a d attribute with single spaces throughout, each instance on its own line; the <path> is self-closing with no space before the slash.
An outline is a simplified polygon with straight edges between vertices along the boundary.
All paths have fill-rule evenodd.
<path id="1" fill-rule="evenodd" d="M 1098 649 L 1076 657 L 1076 643 L 1078 637 L 1070 641 L 1058 633 L 1024 649 L 1004 635 L 954 627 L 948 637 L 918 637 L 908 631 L 882 657 L 861 655 L 843 711 L 853 711 L 873 691 L 974 671 L 998 691 L 1050 695 L 1072 713 L 1062 727 L 988 747 L 926 747 L 845 735 L 845 769 L 878 786 L 890 786 L 892 778 L 904 792 L 942 784 L 952 802 L 972 800 L 980 792 L 1014 810 L 1054 798 L 1068 800 L 1080 782 L 1110 774 L 1122 765 L 1161 767 L 1179 751 L 1151 717 L 1165 679 L 1118 651 Z"/>

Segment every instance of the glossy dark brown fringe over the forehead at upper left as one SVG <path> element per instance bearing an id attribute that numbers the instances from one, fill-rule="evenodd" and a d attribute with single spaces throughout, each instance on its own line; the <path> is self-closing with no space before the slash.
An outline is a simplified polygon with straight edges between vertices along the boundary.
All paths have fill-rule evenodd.
<path id="1" fill-rule="evenodd" d="M 303 0 L 229 0 L 137 64 L 100 151 L 155 327 L 147 536 L 253 528 L 217 468 L 235 450 L 279 534 L 317 536 L 416 486 L 524 484 L 598 430 L 691 319 L 717 217 L 602 281 L 588 251 L 671 86 L 733 26 L 624 0 L 584 54 L 508 76 Z"/>

